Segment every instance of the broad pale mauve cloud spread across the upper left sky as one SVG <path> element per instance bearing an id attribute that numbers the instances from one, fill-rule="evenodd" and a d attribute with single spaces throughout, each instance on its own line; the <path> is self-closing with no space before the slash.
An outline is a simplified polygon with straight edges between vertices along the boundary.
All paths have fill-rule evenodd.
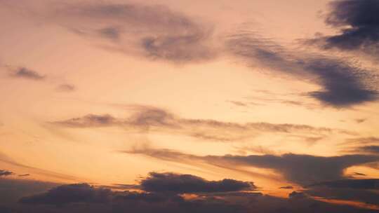
<path id="1" fill-rule="evenodd" d="M 99 46 L 105 50 L 175 63 L 211 60 L 217 54 L 210 25 L 164 5 L 110 1 L 50 3 L 46 8 L 8 5 L 96 43 L 103 41 Z"/>

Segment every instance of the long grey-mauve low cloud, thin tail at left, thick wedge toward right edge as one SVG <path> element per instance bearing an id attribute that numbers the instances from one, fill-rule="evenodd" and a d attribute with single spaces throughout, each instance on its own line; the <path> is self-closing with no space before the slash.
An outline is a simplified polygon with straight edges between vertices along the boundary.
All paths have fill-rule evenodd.
<path id="1" fill-rule="evenodd" d="M 364 165 L 379 161 L 379 156 L 346 155 L 346 156 L 310 156 L 287 153 L 281 156 L 195 156 L 167 149 L 134 149 L 125 153 L 142 154 L 161 160 L 179 163 L 207 163 L 230 170 L 246 170 L 246 167 L 258 167 L 274 170 L 284 179 L 295 184 L 307 186 L 321 181 L 343 179 L 344 170 L 354 165 Z"/>

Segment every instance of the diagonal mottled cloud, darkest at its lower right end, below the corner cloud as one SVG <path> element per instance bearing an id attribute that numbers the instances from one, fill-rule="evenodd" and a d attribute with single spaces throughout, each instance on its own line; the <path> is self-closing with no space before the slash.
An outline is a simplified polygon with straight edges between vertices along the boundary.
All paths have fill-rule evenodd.
<path id="1" fill-rule="evenodd" d="M 253 65 L 260 65 L 280 71 L 280 74 L 295 76 L 312 81 L 321 90 L 310 92 L 324 104 L 334 107 L 350 107 L 378 99 L 378 92 L 369 83 L 371 71 L 356 64 L 331 56 L 310 53 L 292 53 L 284 47 L 268 40 L 257 38 L 255 34 L 241 33 L 231 36 L 227 47 L 234 55 L 243 57 Z"/>

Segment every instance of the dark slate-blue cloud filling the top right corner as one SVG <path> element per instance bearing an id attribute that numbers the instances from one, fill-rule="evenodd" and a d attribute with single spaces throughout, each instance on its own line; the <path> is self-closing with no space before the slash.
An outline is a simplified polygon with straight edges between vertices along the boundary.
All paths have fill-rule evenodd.
<path id="1" fill-rule="evenodd" d="M 324 48 L 360 50 L 378 57 L 379 2 L 376 0 L 333 1 L 326 24 L 340 28 L 340 34 L 325 36 Z"/>

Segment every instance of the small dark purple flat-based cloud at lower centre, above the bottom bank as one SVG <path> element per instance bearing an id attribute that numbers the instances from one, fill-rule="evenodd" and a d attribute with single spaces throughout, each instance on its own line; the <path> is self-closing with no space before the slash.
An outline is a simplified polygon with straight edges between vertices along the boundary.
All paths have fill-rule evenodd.
<path id="1" fill-rule="evenodd" d="M 207 181 L 190 174 L 151 172 L 141 181 L 144 191 L 164 193 L 217 193 L 230 191 L 251 191 L 256 187 L 251 182 L 223 179 Z"/>

